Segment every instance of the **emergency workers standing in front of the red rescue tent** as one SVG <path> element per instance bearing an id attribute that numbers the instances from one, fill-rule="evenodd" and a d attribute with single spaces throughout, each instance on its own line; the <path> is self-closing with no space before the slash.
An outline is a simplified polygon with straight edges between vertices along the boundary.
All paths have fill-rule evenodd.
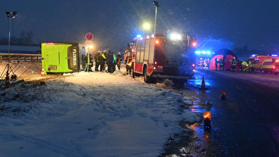
<path id="1" fill-rule="evenodd" d="M 220 71 L 223 71 L 223 65 L 224 65 L 224 60 L 222 58 L 220 58 L 219 60 L 217 59 L 217 57 L 215 58 L 215 70 L 217 70 L 218 68 L 218 64 L 219 64 L 219 69 Z M 249 60 L 249 64 L 246 61 L 241 60 L 237 60 L 236 57 L 233 57 L 232 61 L 231 61 L 231 71 L 236 71 L 236 67 L 239 66 L 239 71 L 250 71 L 251 72 L 251 61 Z"/>

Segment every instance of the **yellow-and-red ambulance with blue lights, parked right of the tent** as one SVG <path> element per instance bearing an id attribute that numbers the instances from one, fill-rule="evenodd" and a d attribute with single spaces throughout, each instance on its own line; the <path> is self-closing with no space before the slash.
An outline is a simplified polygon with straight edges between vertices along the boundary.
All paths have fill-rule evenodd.
<path id="1" fill-rule="evenodd" d="M 253 54 L 248 60 L 252 63 L 252 71 L 264 71 L 265 73 L 273 73 L 273 65 L 278 59 L 278 55 L 263 56 Z"/>

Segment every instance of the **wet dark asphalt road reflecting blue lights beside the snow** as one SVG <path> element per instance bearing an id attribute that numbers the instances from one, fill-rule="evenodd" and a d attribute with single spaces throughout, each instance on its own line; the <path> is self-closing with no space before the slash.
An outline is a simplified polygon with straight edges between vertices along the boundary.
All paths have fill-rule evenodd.
<path id="1" fill-rule="evenodd" d="M 203 123 L 182 124 L 190 128 L 190 143 L 171 156 L 279 156 L 279 84 L 238 79 L 239 72 L 198 70 L 195 80 L 184 85 L 185 96 L 194 100 L 192 111 L 212 113 L 211 129 Z M 202 76 L 206 91 L 199 90 Z M 254 73 L 276 79 L 274 74 Z M 279 76 L 277 76 L 279 79 Z M 273 82 L 274 84 L 274 82 Z M 226 101 L 221 101 L 221 91 Z M 179 92 L 178 91 L 178 92 Z"/>

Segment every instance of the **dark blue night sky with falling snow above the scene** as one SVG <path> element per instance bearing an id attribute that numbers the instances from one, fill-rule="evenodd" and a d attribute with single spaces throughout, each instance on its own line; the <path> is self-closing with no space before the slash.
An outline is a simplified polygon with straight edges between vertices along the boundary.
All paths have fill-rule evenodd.
<path id="1" fill-rule="evenodd" d="M 146 21 L 154 31 L 153 0 L 103 1 L 22 1 L 0 2 L 1 37 L 8 37 L 5 11 L 17 11 L 12 34 L 32 30 L 33 41 L 84 43 L 85 34 L 94 35 L 94 43 L 123 49 L 142 29 Z M 278 0 L 158 0 L 156 32 L 190 32 L 199 46 L 207 39 L 221 39 L 223 47 L 243 47 L 279 51 Z M 150 31 L 149 31 L 150 32 Z M 217 41 L 218 42 L 218 41 Z M 210 45 L 206 45 L 210 46 Z"/>

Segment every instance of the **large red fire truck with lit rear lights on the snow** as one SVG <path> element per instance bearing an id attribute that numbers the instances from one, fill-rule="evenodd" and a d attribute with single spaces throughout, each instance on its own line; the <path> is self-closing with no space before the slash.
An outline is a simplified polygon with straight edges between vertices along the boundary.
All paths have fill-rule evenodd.
<path id="1" fill-rule="evenodd" d="M 194 36 L 183 34 L 155 34 L 134 39 L 132 48 L 132 76 L 143 75 L 144 82 L 170 79 L 183 85 L 194 79 L 196 46 Z"/>

